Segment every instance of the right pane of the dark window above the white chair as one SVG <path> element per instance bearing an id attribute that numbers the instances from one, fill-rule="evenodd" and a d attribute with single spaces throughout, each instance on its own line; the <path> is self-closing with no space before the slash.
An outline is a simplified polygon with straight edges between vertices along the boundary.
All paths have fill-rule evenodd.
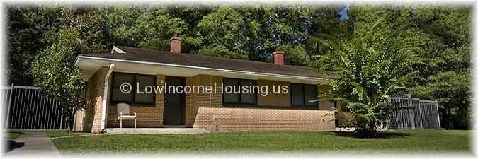
<path id="1" fill-rule="evenodd" d="M 139 86 L 139 90 L 137 92 L 144 92 L 144 93 L 137 93 L 135 95 L 135 102 L 154 102 L 154 81 L 156 78 L 154 76 L 136 76 L 136 83 Z M 146 93 L 144 89 L 146 86 L 151 86 L 153 89 L 149 89 L 148 91 L 152 91 L 151 93 Z"/>

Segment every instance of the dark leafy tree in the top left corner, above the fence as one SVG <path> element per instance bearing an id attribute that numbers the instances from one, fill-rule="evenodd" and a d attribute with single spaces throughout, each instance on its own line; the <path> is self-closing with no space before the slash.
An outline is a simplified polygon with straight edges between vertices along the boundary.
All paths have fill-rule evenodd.
<path id="1" fill-rule="evenodd" d="M 55 41 L 59 9 L 23 7 L 8 4 L 6 7 L 8 40 L 8 83 L 32 86 L 31 62 L 38 50 L 46 49 Z"/>

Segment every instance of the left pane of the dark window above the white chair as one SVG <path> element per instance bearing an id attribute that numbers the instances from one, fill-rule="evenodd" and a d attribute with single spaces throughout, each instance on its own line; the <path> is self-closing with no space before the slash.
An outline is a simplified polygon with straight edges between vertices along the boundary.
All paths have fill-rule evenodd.
<path id="1" fill-rule="evenodd" d="M 130 83 L 132 87 L 135 86 L 134 83 L 134 75 L 131 74 L 123 74 L 123 73 L 115 73 L 113 75 L 113 97 L 111 100 L 117 101 L 117 102 L 131 102 L 132 98 L 132 93 L 134 90 L 131 90 L 130 93 L 123 93 L 120 90 L 120 86 L 123 83 Z M 130 88 L 132 89 L 132 88 Z"/>

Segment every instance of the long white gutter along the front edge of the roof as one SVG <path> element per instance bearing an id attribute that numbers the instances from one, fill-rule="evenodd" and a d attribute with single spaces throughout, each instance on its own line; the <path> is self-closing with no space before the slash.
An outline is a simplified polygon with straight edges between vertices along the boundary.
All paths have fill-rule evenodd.
<path id="1" fill-rule="evenodd" d="M 109 58 L 102 58 L 102 57 L 86 57 L 86 56 L 81 55 L 81 54 L 78 57 L 76 57 L 75 66 L 79 63 L 80 58 L 96 59 L 96 60 L 111 61 L 111 62 L 120 61 L 120 62 L 137 63 L 137 64 L 154 64 L 154 65 L 159 65 L 159 66 L 173 66 L 173 67 L 181 67 L 181 68 L 188 68 L 188 69 L 203 69 L 203 70 L 210 70 L 210 71 L 224 71 L 224 72 L 229 72 L 229 73 L 241 73 L 241 74 L 245 74 L 245 75 L 258 75 L 258 76 L 294 78 L 294 79 L 317 80 L 317 81 L 324 80 L 324 78 L 315 78 L 315 77 L 306 77 L 306 76 L 292 76 L 292 75 L 281 75 L 281 74 L 274 74 L 274 73 L 259 73 L 259 72 L 251 72 L 251 71 L 237 71 L 237 70 L 230 70 L 230 69 L 214 69 L 214 68 L 201 67 L 201 66 L 164 64 L 164 63 L 159 63 L 159 62 L 134 61 L 134 60 L 125 60 L 125 59 L 109 59 Z"/>

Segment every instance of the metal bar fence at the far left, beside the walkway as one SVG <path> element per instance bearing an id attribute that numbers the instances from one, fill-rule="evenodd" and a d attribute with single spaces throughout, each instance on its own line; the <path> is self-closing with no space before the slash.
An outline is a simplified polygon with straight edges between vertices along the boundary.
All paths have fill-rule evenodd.
<path id="1" fill-rule="evenodd" d="M 1 87 L 0 103 L 4 108 L 4 129 L 64 129 L 59 102 L 31 86 Z"/>

